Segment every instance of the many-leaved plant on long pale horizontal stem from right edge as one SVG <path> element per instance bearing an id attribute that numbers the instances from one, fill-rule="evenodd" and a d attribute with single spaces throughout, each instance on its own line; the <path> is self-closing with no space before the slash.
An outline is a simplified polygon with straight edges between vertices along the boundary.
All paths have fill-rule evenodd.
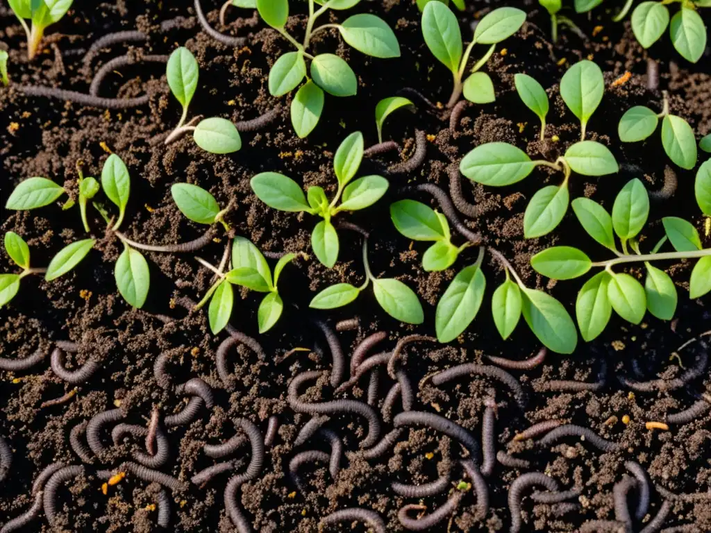
<path id="1" fill-rule="evenodd" d="M 711 212 L 711 165 L 697 177 L 697 199 L 705 213 Z M 668 274 L 652 262 L 699 259 L 691 273 L 690 297 L 699 298 L 711 291 L 711 249 L 702 248 L 699 234 L 690 222 L 678 217 L 663 218 L 665 237 L 651 253 L 640 252 L 643 239 L 638 235 L 647 222 L 649 199 L 646 188 L 638 179 L 627 183 L 617 195 L 612 215 L 588 198 L 574 200 L 573 209 L 588 235 L 613 252 L 615 257 L 592 262 L 577 248 L 558 246 L 536 254 L 531 259 L 531 266 L 544 276 L 560 280 L 583 276 L 593 268 L 604 269 L 592 276 L 577 296 L 577 322 L 584 340 L 593 340 L 602 333 L 613 310 L 634 324 L 642 321 L 646 311 L 662 320 L 673 318 L 678 300 L 675 285 Z M 615 235 L 621 243 L 621 252 L 616 246 Z M 675 252 L 660 252 L 667 240 Z M 616 265 L 634 262 L 644 263 L 644 286 L 634 276 L 613 270 Z"/>

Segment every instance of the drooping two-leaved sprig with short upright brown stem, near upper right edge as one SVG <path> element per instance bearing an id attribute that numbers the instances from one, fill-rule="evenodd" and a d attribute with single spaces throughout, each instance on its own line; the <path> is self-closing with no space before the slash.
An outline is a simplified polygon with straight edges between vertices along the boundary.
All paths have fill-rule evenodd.
<path id="1" fill-rule="evenodd" d="M 620 140 L 631 143 L 647 139 L 657 129 L 659 119 L 662 119 L 662 146 L 667 156 L 681 168 L 694 168 L 698 157 L 694 130 L 683 118 L 669 113 L 669 97 L 666 92 L 661 113 L 637 105 L 622 115 L 617 126 Z"/>

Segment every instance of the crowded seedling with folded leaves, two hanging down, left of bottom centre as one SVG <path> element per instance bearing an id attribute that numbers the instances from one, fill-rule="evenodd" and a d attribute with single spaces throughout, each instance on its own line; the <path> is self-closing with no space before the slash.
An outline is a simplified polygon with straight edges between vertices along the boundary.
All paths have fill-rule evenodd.
<path id="1" fill-rule="evenodd" d="M 269 269 L 267 259 L 264 259 L 259 248 L 244 237 L 235 237 L 232 242 L 232 269 L 226 274 L 222 269 L 215 269 L 214 266 L 198 258 L 203 266 L 218 276 L 218 281 L 210 287 L 205 297 L 196 306 L 196 309 L 199 309 L 208 300 L 210 301 L 208 321 L 213 334 L 220 333 L 230 321 L 234 303 L 232 285 L 246 287 L 250 291 L 267 293 L 257 311 L 257 324 L 260 333 L 271 329 L 279 321 L 284 310 L 284 302 L 279 296 L 277 286 L 279 276 L 282 274 L 284 266 L 287 266 L 294 258 L 296 258 L 296 254 L 286 254 L 279 259 L 277 266 L 274 266 L 274 281 L 272 281 L 272 271 Z"/>

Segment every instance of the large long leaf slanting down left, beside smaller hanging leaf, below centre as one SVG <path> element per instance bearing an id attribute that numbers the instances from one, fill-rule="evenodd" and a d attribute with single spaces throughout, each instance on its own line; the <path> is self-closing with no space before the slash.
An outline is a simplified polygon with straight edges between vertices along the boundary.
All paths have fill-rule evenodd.
<path id="1" fill-rule="evenodd" d="M 434 316 L 440 343 L 449 343 L 469 327 L 476 313 L 479 313 L 485 289 L 486 278 L 479 265 L 467 266 L 454 276 L 437 303 Z"/>

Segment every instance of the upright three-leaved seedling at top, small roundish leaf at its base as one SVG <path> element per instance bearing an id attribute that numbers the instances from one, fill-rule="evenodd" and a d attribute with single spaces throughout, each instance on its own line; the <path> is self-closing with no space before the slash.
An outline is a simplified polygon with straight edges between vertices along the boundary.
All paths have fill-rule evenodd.
<path id="1" fill-rule="evenodd" d="M 454 107 L 459 97 L 464 97 L 475 104 L 488 104 L 496 99 L 493 82 L 486 72 L 479 70 L 486 65 L 493 54 L 496 43 L 512 36 L 526 20 L 526 14 L 520 9 L 502 7 L 494 9 L 479 21 L 474 30 L 474 39 L 466 47 L 461 41 L 459 21 L 445 4 L 439 1 L 428 2 L 422 11 L 422 35 L 427 48 L 437 60 L 451 70 L 454 88 L 447 107 Z M 475 44 L 491 45 L 471 68 L 471 75 L 464 80 L 469 55 Z M 464 81 L 463 81 L 464 80 Z"/>

